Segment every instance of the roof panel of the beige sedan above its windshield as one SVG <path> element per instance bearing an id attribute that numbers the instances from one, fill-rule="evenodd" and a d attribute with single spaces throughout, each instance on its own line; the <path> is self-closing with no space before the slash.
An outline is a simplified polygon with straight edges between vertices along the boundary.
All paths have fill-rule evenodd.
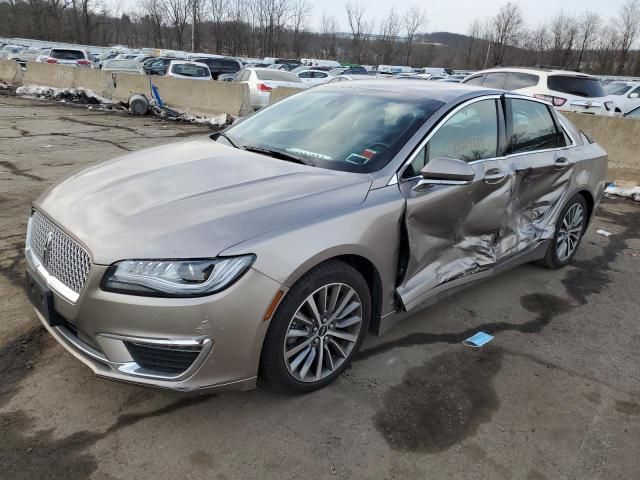
<path id="1" fill-rule="evenodd" d="M 377 90 L 390 93 L 406 93 L 443 103 L 449 103 L 460 97 L 481 96 L 491 94 L 509 93 L 517 95 L 516 92 L 505 92 L 491 88 L 479 87 L 477 85 L 467 85 L 447 82 L 416 82 L 412 80 L 396 79 L 375 79 L 374 81 L 354 80 L 352 82 L 328 83 L 319 88 L 357 88 L 359 90 Z M 529 97 L 527 97 L 529 98 Z"/>

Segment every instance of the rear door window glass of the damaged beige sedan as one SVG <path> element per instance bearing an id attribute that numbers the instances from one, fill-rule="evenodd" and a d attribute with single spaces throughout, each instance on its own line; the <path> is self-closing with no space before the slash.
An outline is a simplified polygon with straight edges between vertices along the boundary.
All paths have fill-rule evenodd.
<path id="1" fill-rule="evenodd" d="M 511 153 L 563 146 L 563 142 L 558 142 L 559 134 L 556 125 L 545 104 L 512 99 L 511 119 Z"/>

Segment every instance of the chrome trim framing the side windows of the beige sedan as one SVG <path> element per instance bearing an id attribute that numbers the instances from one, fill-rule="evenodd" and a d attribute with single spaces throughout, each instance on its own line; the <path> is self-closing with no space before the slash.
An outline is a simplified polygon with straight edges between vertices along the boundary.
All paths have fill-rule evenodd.
<path id="1" fill-rule="evenodd" d="M 499 99 L 500 97 L 501 97 L 501 95 L 493 94 L 493 95 L 486 95 L 486 96 L 482 96 L 482 97 L 472 98 L 471 100 L 468 100 L 467 102 L 458 105 L 454 110 L 449 112 L 440 121 L 440 123 L 435 127 L 435 129 L 432 130 L 431 132 L 429 132 L 429 134 L 425 137 L 425 139 L 418 145 L 418 147 L 416 147 L 416 149 L 413 151 L 413 153 L 411 155 L 409 155 L 409 157 L 407 157 L 407 160 L 405 160 L 404 163 L 400 166 L 400 168 L 398 168 L 398 170 L 396 171 L 394 176 L 391 177 L 391 180 L 389 180 L 389 183 L 387 183 L 387 185 L 395 185 L 395 184 L 397 184 L 399 182 L 409 182 L 409 181 L 415 180 L 417 178 L 422 178 L 421 175 L 416 175 L 414 177 L 409 177 L 409 178 L 402 178 L 402 172 L 413 161 L 413 159 L 418 155 L 418 153 L 420 153 L 420 150 L 422 150 L 425 147 L 425 145 L 429 142 L 429 140 L 431 140 L 431 137 L 433 135 L 435 135 L 435 133 L 440 129 L 440 127 L 442 125 L 444 125 L 444 123 L 446 123 L 447 120 L 449 120 L 449 118 L 451 118 L 451 116 L 456 114 L 458 111 L 460 111 L 462 108 L 466 107 L 467 105 L 471 105 L 471 104 L 473 104 L 475 102 L 478 102 L 478 101 L 481 101 L 481 100 L 491 100 L 491 99 L 496 99 L 496 98 Z M 551 105 L 549 102 L 545 102 L 544 100 L 540 100 L 540 99 L 535 98 L 535 97 L 527 97 L 527 96 L 523 96 L 523 95 L 514 95 L 514 94 L 510 94 L 510 93 L 505 94 L 505 97 L 506 98 L 515 98 L 515 99 L 518 99 L 518 100 L 528 100 L 528 101 L 531 101 L 531 102 L 537 102 L 537 103 L 541 103 L 543 105 L 547 105 L 547 106 L 550 106 L 551 108 L 553 108 L 553 105 Z M 573 138 L 573 135 L 571 135 L 571 133 L 569 132 L 569 129 L 566 127 L 566 125 L 564 124 L 562 119 L 560 117 L 556 117 L 556 118 L 557 118 L 558 123 L 560 124 L 560 126 L 563 128 L 564 132 L 567 134 L 567 137 L 571 141 L 570 145 L 565 145 L 564 147 L 544 148 L 544 149 L 541 149 L 541 150 L 530 150 L 528 152 L 510 153 L 509 155 L 503 155 L 503 156 L 500 156 L 500 157 L 483 158 L 481 160 L 473 160 L 472 162 L 467 162 L 467 163 L 469 165 L 476 165 L 478 163 L 483 163 L 483 162 L 490 162 L 490 161 L 495 161 L 495 160 L 504 160 L 504 159 L 511 158 L 511 157 L 519 157 L 521 155 L 530 155 L 532 153 L 545 153 L 545 152 L 555 152 L 555 151 L 560 151 L 560 150 L 566 150 L 568 148 L 573 148 L 573 147 L 577 146 L 577 143 L 576 143 L 575 139 Z"/>

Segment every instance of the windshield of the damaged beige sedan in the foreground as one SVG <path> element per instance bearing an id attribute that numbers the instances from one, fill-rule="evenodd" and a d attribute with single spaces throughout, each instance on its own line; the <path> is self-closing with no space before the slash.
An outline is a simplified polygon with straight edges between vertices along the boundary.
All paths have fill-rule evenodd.
<path id="1" fill-rule="evenodd" d="M 239 146 L 370 173 L 389 163 L 441 105 L 396 92 L 323 87 L 281 100 L 225 133 Z"/>

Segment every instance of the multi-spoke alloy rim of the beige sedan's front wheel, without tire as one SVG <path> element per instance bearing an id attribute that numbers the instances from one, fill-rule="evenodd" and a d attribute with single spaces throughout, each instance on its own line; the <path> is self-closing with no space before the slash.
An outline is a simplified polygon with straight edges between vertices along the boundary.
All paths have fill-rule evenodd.
<path id="1" fill-rule="evenodd" d="M 331 375 L 349 358 L 360 335 L 362 302 L 344 283 L 325 285 L 296 310 L 284 339 L 289 374 L 301 382 Z"/>

